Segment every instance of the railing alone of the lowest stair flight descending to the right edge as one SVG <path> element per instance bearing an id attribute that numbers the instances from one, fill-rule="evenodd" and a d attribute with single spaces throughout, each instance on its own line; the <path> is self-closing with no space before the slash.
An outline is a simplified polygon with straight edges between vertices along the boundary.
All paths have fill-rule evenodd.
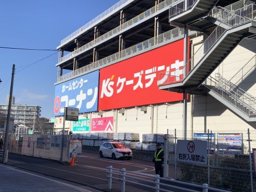
<path id="1" fill-rule="evenodd" d="M 220 74 L 216 74 L 216 78 L 208 77 L 204 85 L 248 116 L 256 115 L 256 98 L 223 78 Z"/>

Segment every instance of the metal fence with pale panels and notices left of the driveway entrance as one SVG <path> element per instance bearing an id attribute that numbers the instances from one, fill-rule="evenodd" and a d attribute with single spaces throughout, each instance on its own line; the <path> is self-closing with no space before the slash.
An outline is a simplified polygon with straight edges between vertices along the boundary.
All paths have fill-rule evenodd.
<path id="1" fill-rule="evenodd" d="M 40 145 L 38 138 L 47 138 L 48 141 L 44 141 L 44 145 Z M 15 137 L 11 137 L 10 135 L 8 139 L 8 150 L 9 153 L 14 154 L 60 160 L 61 147 L 51 147 L 50 139 L 51 135 L 23 135 L 23 137 L 19 137 L 16 140 Z M 70 162 L 68 136 L 65 136 L 63 146 L 63 161 Z"/>

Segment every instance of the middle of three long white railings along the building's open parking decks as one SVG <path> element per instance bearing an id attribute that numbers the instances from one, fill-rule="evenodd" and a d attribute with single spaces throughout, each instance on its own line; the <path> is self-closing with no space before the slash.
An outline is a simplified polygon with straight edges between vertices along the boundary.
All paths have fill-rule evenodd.
<path id="1" fill-rule="evenodd" d="M 170 4 L 172 4 L 172 3 L 176 2 L 176 1 L 177 1 L 177 0 L 165 0 L 165 1 L 161 2 L 161 3 L 158 5 L 157 9 L 156 9 L 156 6 L 154 6 L 154 7 L 150 8 L 150 9 L 144 11 L 143 13 L 137 15 L 136 17 L 134 17 L 134 18 L 128 20 L 127 22 L 125 22 L 125 23 L 122 24 L 121 26 L 118 26 L 118 27 L 112 29 L 111 31 L 109 31 L 109 32 L 107 32 L 107 33 L 105 33 L 105 34 L 99 36 L 99 37 L 96 38 L 95 40 L 92 40 L 92 41 L 88 42 L 86 45 L 81 46 L 80 48 L 74 50 L 73 52 L 70 52 L 70 53 L 68 53 L 67 55 L 63 56 L 63 57 L 60 57 L 60 58 L 59 58 L 59 62 L 62 62 L 62 61 L 64 61 L 64 60 L 67 60 L 67 59 L 69 59 L 69 58 L 71 58 L 71 57 L 73 57 L 73 56 L 75 56 L 75 55 L 80 54 L 80 53 L 83 52 L 83 51 L 86 51 L 86 50 L 88 50 L 88 49 L 91 49 L 92 47 L 94 47 L 95 44 L 98 44 L 99 42 L 101 42 L 101 41 L 103 41 L 103 40 L 105 40 L 105 39 L 107 39 L 107 38 L 112 37 L 113 35 L 115 35 L 115 34 L 121 32 L 122 30 L 125 30 L 126 28 L 128 28 L 128 27 L 130 27 L 130 26 L 132 26 L 132 25 L 134 25 L 134 24 L 140 22 L 141 20 L 143 20 L 143 19 L 145 19 L 145 18 L 151 16 L 152 14 L 156 13 L 156 10 L 157 10 L 157 11 L 160 11 L 160 10 L 162 10 L 163 8 L 169 6 Z"/>

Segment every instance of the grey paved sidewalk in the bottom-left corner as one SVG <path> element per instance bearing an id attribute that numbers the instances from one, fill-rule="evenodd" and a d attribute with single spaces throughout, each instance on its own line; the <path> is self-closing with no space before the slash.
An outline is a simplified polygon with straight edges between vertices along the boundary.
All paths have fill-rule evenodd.
<path id="1" fill-rule="evenodd" d="M 0 164 L 1 191 L 92 191 Z"/>

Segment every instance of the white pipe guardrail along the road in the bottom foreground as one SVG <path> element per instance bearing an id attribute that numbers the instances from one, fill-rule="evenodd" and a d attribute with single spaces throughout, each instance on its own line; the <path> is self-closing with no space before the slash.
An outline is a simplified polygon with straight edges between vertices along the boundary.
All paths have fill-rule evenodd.
<path id="1" fill-rule="evenodd" d="M 175 186 L 175 185 L 166 184 L 166 182 L 170 182 L 173 184 L 179 184 L 179 185 L 183 185 L 183 186 L 194 187 L 194 188 L 200 188 L 200 189 L 202 189 L 201 191 L 203 191 L 203 192 L 207 192 L 208 189 L 211 191 L 228 192 L 227 190 L 209 187 L 208 184 L 197 185 L 197 184 L 186 183 L 186 182 L 177 181 L 177 180 L 173 180 L 173 179 L 160 178 L 159 175 L 154 176 L 154 175 L 142 174 L 142 173 L 137 173 L 137 172 L 130 172 L 128 170 L 125 170 L 125 168 L 118 169 L 118 168 L 113 168 L 112 166 L 108 166 L 106 168 L 109 169 L 106 172 L 106 173 L 108 173 L 108 176 L 106 176 L 108 178 L 108 189 L 112 189 L 112 179 L 116 179 L 118 181 L 121 181 L 121 192 L 125 191 L 125 183 L 126 182 L 135 184 L 135 185 L 140 185 L 140 186 L 150 188 L 150 189 L 155 189 L 156 192 L 159 192 L 159 191 L 172 192 L 171 190 L 168 190 L 166 188 L 179 189 L 181 191 L 189 191 L 189 192 L 199 192 L 198 190 L 192 190 L 192 189 L 188 189 L 188 188 L 183 188 L 183 187 L 179 187 L 179 186 Z M 113 170 L 114 170 L 114 172 L 113 172 Z M 117 176 L 119 176 L 119 178 L 113 177 L 113 175 L 117 175 Z M 142 177 L 143 178 L 145 178 L 145 177 L 151 178 L 152 180 L 142 179 Z M 128 180 L 126 178 L 130 178 L 133 181 Z M 151 183 L 152 185 L 138 183 L 138 182 L 136 182 L 136 180 Z M 165 181 L 165 183 L 160 182 L 160 181 Z M 161 188 L 162 186 L 165 188 Z"/>

